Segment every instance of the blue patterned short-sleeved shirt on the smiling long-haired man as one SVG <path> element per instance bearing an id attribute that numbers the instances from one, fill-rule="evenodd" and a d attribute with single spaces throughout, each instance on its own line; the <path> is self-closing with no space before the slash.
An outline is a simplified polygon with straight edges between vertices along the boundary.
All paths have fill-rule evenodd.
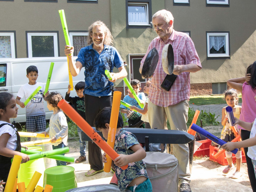
<path id="1" fill-rule="evenodd" d="M 84 94 L 91 96 L 109 96 L 111 95 L 110 87 L 114 83 L 108 81 L 105 75 L 105 70 L 113 72 L 114 67 L 120 68 L 123 66 L 123 60 L 115 47 L 104 45 L 104 49 L 99 55 L 92 48 L 93 44 L 83 47 L 76 61 L 82 63 L 84 67 Z"/>

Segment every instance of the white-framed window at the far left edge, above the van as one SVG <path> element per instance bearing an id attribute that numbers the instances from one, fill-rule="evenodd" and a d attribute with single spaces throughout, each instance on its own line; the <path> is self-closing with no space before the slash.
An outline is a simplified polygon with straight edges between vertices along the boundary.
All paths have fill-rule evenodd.
<path id="1" fill-rule="evenodd" d="M 15 58 L 15 31 L 0 31 L 0 58 Z"/>

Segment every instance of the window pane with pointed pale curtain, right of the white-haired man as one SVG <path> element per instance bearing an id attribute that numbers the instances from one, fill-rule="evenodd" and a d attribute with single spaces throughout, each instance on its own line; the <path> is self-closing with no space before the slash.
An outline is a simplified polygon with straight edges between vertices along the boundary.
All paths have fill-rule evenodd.
<path id="1" fill-rule="evenodd" d="M 209 48 L 211 54 L 226 53 L 226 39 L 225 36 L 210 36 Z"/>

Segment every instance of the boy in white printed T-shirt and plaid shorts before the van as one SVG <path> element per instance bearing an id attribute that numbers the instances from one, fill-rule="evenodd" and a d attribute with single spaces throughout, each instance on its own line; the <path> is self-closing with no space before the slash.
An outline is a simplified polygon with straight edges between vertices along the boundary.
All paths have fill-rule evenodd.
<path id="1" fill-rule="evenodd" d="M 48 95 L 48 92 L 44 94 L 45 85 L 43 83 L 36 82 L 38 78 L 38 69 L 36 66 L 31 65 L 27 68 L 28 83 L 22 85 L 18 91 L 16 102 L 21 108 L 24 108 L 24 102 L 20 99 L 24 97 L 25 100 L 36 90 L 38 86 L 42 88 L 26 105 L 26 129 L 27 132 L 43 132 L 46 129 L 45 111 L 43 98 Z M 30 137 L 28 137 L 30 141 Z"/>

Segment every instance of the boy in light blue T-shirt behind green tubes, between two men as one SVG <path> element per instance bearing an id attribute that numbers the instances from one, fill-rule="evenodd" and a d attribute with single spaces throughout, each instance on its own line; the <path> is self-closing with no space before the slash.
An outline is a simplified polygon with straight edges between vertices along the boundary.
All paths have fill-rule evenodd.
<path id="1" fill-rule="evenodd" d="M 146 101 L 146 96 L 143 92 L 139 92 L 141 90 L 141 87 L 140 87 L 140 81 L 137 80 L 137 79 L 133 79 L 130 84 L 132 85 L 133 87 L 133 90 L 135 91 L 136 95 L 138 96 L 139 100 L 141 103 L 145 103 Z M 132 106 L 135 106 L 139 109 L 142 109 L 139 105 L 139 103 L 135 100 L 133 94 L 130 92 L 130 90 L 128 89 L 128 95 L 126 95 L 124 98 L 123 98 L 123 101 L 132 105 Z M 141 124 L 143 124 L 143 121 L 141 121 L 141 114 L 140 113 L 137 113 L 137 112 L 133 112 L 132 110 L 130 110 L 129 108 L 125 107 L 124 105 L 120 105 L 120 108 L 121 108 L 121 113 L 125 113 L 129 119 L 129 117 L 131 116 L 132 113 L 136 113 L 136 116 L 132 119 L 129 119 L 128 120 L 128 123 L 129 123 L 129 127 L 140 127 Z M 135 119 L 136 118 L 136 119 Z M 137 126 L 136 126 L 137 125 Z"/>

